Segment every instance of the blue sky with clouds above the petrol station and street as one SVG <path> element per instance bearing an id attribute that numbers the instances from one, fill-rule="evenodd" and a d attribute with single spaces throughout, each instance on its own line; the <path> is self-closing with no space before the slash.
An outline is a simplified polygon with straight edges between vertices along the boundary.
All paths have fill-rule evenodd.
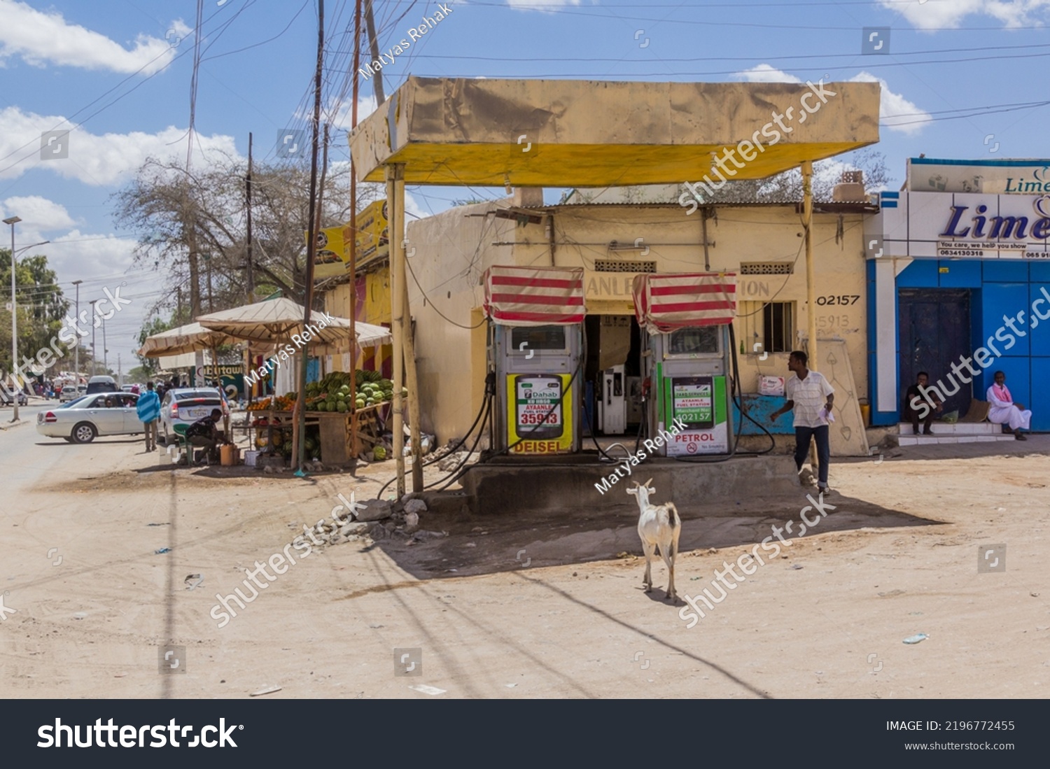
<path id="1" fill-rule="evenodd" d="M 194 165 L 208 152 L 273 159 L 278 132 L 306 127 L 316 57 L 316 0 L 206 0 Z M 383 68 L 386 92 L 428 77 L 638 81 L 880 79 L 882 141 L 895 174 L 905 158 L 1046 157 L 1043 78 L 1050 0 L 652 2 L 489 0 L 453 13 Z M 381 49 L 439 7 L 376 0 Z M 16 247 L 46 253 L 81 307 L 122 282 L 134 303 L 107 321 L 110 366 L 125 370 L 145 313 L 165 295 L 132 268 L 142 233 L 112 221 L 110 196 L 148 155 L 186 156 L 196 2 L 0 0 L 0 214 L 20 216 Z M 326 120 L 349 127 L 352 0 L 326 2 Z M 862 52 L 863 27 L 890 27 L 887 54 Z M 340 46 L 343 50 L 340 50 Z M 363 116 L 374 108 L 361 86 Z M 629 120 L 625 105 L 624 119 Z M 41 159 L 41 134 L 70 129 L 68 157 Z M 990 137 L 989 137 L 990 136 Z M 345 137 L 333 161 L 346 159 Z M 452 198 L 502 190 L 410 188 L 420 216 Z M 0 217 L 0 218 L 2 218 Z M 3 242 L 9 232 L 4 229 Z M 99 345 L 101 350 L 101 338 Z M 101 358 L 101 351 L 100 351 Z"/>

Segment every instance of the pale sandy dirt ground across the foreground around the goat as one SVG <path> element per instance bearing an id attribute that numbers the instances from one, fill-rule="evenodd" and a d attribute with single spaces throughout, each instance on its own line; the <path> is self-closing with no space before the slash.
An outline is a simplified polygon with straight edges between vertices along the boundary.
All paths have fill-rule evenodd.
<path id="1" fill-rule="evenodd" d="M 138 440 L 72 446 L 25 425 L 0 432 L 0 467 L 9 698 L 1050 691 L 1050 436 L 835 461 L 835 510 L 743 581 L 728 577 L 724 600 L 699 604 L 707 616 L 692 627 L 685 601 L 665 598 L 663 562 L 656 589 L 643 591 L 636 512 L 588 513 L 586 499 L 534 516 L 424 513 L 422 529 L 448 536 L 315 549 L 274 581 L 259 577 L 267 586 L 218 627 L 216 594 L 251 596 L 246 570 L 327 518 L 338 493 L 374 496 L 393 463 L 357 478 L 234 477 L 172 469 Z M 693 597 L 702 588 L 717 597 L 723 560 L 810 505 L 801 489 L 673 501 L 685 519 L 677 589 Z M 992 544 L 1006 546 L 1006 571 L 979 573 L 979 546 Z M 190 590 L 200 578 L 189 575 L 203 582 Z M 920 633 L 928 637 L 902 642 Z M 164 644 L 185 647 L 180 672 L 161 672 Z M 395 649 L 418 649 L 421 675 L 396 676 Z"/>

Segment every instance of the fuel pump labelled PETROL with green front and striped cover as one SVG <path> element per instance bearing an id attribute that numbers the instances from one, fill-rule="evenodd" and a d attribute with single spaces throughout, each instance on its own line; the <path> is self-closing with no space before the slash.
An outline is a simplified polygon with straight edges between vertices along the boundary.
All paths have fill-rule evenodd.
<path id="1" fill-rule="evenodd" d="M 643 335 L 649 435 L 685 425 L 658 449 L 663 456 L 730 453 L 735 295 L 734 275 L 635 278 L 635 313 L 649 332 Z"/>

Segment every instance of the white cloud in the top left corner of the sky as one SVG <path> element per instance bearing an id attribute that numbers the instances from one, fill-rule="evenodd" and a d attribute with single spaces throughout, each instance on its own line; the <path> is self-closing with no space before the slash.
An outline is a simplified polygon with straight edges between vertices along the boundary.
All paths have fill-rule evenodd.
<path id="1" fill-rule="evenodd" d="M 168 40 L 140 35 L 128 50 L 105 35 L 68 23 L 57 10 L 37 10 L 16 0 L 0 0 L 0 61 L 19 56 L 34 66 L 51 63 L 128 74 L 164 69 L 175 58 L 174 46 L 190 31 L 176 20 Z"/>

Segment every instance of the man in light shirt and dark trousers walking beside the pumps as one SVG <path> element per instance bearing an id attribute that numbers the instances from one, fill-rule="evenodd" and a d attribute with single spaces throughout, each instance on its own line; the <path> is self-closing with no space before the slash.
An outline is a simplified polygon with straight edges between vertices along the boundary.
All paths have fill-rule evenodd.
<path id="1" fill-rule="evenodd" d="M 806 368 L 807 363 L 808 356 L 802 350 L 795 350 L 788 357 L 788 369 L 795 375 L 785 386 L 788 403 L 771 413 L 770 419 L 775 422 L 780 414 L 795 409 L 795 466 L 799 472 L 810 452 L 810 439 L 816 439 L 817 486 L 823 494 L 827 491 L 827 465 L 832 457 L 827 425 L 834 420 L 831 414 L 835 390 L 819 371 Z"/>

